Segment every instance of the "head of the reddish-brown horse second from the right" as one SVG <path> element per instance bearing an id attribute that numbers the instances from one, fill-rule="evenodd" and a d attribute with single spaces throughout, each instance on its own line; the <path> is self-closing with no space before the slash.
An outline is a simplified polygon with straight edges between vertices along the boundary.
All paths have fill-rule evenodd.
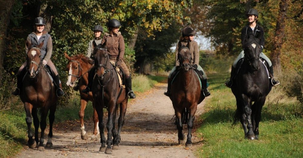
<path id="1" fill-rule="evenodd" d="M 178 52 L 178 61 L 184 71 L 188 71 L 191 67 L 191 52 L 188 47 L 181 47 Z"/>

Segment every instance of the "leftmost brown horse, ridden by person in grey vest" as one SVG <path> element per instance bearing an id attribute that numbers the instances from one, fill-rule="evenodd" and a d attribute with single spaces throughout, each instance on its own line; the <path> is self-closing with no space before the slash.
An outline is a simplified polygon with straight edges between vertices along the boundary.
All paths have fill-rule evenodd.
<path id="1" fill-rule="evenodd" d="M 44 131 L 46 128 L 46 117 L 49 113 L 49 133 L 46 147 L 52 147 L 52 127 L 55 120 L 55 111 L 57 106 L 58 97 L 51 78 L 46 72 L 45 67 L 42 65 L 41 47 L 44 41 L 38 46 L 32 46 L 32 44 L 25 42 L 28 47 L 26 62 L 27 72 L 23 79 L 22 89 L 20 92 L 20 98 L 24 103 L 24 109 L 26 113 L 26 124 L 28 127 L 28 147 L 33 149 L 38 147 L 38 150 L 44 151 Z M 41 120 L 41 136 L 38 139 L 39 118 L 37 108 L 40 108 Z M 31 116 L 32 115 L 32 116 Z M 33 117 L 33 119 L 32 119 Z M 32 133 L 32 120 L 35 127 L 35 139 L 33 139 Z M 39 144 L 38 144 L 39 143 Z"/>

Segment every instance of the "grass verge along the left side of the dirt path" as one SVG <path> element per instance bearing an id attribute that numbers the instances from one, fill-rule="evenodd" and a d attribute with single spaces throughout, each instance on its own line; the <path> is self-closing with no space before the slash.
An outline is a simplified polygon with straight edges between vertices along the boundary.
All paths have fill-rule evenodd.
<path id="1" fill-rule="evenodd" d="M 161 76 L 135 76 L 133 90 L 135 92 L 145 92 L 158 82 L 162 82 L 167 77 Z M 140 88 L 142 85 L 143 88 Z M 0 111 L 0 157 L 12 157 L 18 153 L 24 145 L 27 145 L 27 125 L 25 123 L 25 112 L 22 102 L 18 97 L 12 97 L 14 105 L 11 108 Z M 1 100 L 1 104 L 5 102 Z M 10 101 L 8 101 L 10 102 Z M 68 102 L 68 104 L 58 104 L 55 112 L 54 124 L 67 121 L 78 120 L 80 109 L 80 96 L 78 92 L 73 91 L 73 95 L 68 101 L 60 100 L 60 102 Z M 20 106 L 21 105 L 21 106 Z M 92 120 L 93 108 L 92 102 L 88 102 L 85 108 L 85 120 Z M 47 118 L 48 121 L 48 118 Z M 32 130 L 34 130 L 32 124 Z"/>

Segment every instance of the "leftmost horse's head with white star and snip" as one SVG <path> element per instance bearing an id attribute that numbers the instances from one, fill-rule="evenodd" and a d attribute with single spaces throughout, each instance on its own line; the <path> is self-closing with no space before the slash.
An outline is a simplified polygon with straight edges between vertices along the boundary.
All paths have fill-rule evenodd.
<path id="1" fill-rule="evenodd" d="M 26 62 L 27 62 L 27 70 L 30 78 L 35 78 L 36 75 L 41 72 L 42 68 L 40 69 L 40 66 L 42 65 L 41 61 L 41 47 L 43 46 L 43 42 L 41 44 L 32 45 L 27 40 L 25 41 L 26 46 L 28 47 L 27 56 L 26 56 Z"/>

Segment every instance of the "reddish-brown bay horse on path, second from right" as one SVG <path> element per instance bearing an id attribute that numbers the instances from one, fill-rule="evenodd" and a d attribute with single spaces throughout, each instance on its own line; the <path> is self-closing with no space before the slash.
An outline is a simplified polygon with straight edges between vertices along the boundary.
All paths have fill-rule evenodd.
<path id="1" fill-rule="evenodd" d="M 191 130 L 195 120 L 197 105 L 205 99 L 204 94 L 201 93 L 199 78 L 190 64 L 191 60 L 189 48 L 182 46 L 178 52 L 180 66 L 176 69 L 179 72 L 175 76 L 175 81 L 171 83 L 171 96 L 169 97 L 175 109 L 175 124 L 178 129 L 179 144 L 185 143 L 185 135 L 182 130 L 183 124 L 187 124 L 186 147 L 192 146 Z"/>

